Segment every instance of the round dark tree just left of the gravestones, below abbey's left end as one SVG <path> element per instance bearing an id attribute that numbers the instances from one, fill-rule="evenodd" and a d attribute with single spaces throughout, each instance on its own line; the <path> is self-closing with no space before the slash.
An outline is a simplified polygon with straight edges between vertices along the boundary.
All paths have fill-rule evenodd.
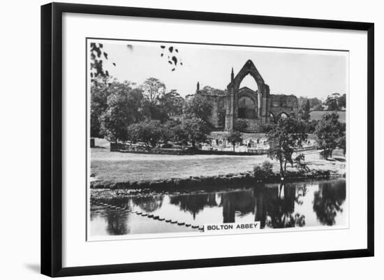
<path id="1" fill-rule="evenodd" d="M 206 142 L 211 129 L 205 121 L 197 117 L 185 118 L 182 120 L 182 128 L 185 132 L 186 139 L 191 142 L 193 148 L 196 143 Z"/>

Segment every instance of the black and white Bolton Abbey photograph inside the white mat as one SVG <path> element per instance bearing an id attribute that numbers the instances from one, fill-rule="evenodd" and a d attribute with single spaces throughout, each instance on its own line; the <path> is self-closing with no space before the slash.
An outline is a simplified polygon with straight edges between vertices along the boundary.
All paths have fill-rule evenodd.
<path id="1" fill-rule="evenodd" d="M 348 228 L 347 50 L 86 41 L 87 240 Z"/>

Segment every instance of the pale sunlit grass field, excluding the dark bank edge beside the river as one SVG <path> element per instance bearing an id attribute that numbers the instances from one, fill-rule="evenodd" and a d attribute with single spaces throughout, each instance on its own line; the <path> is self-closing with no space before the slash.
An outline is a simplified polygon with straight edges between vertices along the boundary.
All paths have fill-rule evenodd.
<path id="1" fill-rule="evenodd" d="M 250 171 L 263 161 L 271 161 L 274 170 L 279 170 L 278 162 L 267 156 L 130 154 L 98 147 L 91 149 L 91 175 L 113 182 L 215 176 Z M 316 170 L 344 172 L 345 168 L 342 161 L 319 159 L 318 152 L 307 153 L 306 161 Z"/>

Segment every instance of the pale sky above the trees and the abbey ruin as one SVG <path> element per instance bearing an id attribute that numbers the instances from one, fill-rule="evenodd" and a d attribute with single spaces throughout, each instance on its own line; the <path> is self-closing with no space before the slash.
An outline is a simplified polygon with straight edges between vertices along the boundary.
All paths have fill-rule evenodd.
<path id="1" fill-rule="evenodd" d="M 348 94 L 348 52 L 121 40 L 94 42 L 103 43 L 103 50 L 108 53 L 105 70 L 118 80 L 141 84 L 154 77 L 163 81 L 167 90 L 176 89 L 182 96 L 193 94 L 197 82 L 200 87 L 226 89 L 231 68 L 236 75 L 248 59 L 269 84 L 271 94 L 321 99 L 334 92 Z M 168 63 L 168 55 L 172 59 L 175 54 L 176 67 Z M 250 75 L 241 86 L 257 89 Z"/>

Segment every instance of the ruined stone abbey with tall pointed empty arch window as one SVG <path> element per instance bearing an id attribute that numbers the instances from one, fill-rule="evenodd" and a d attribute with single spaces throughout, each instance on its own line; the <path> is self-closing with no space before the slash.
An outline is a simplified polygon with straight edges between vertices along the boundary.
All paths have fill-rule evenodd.
<path id="1" fill-rule="evenodd" d="M 246 75 L 253 77 L 258 90 L 240 88 Z M 207 94 L 200 90 L 198 83 L 196 94 L 205 96 L 211 103 L 209 122 L 217 130 L 233 131 L 235 122 L 242 119 L 248 124 L 242 132 L 258 133 L 261 132 L 263 125 L 276 123 L 281 117 L 299 117 L 297 97 L 269 94 L 269 85 L 265 84 L 251 60 L 246 61 L 237 75 L 234 75 L 232 68 L 226 91 Z"/>

